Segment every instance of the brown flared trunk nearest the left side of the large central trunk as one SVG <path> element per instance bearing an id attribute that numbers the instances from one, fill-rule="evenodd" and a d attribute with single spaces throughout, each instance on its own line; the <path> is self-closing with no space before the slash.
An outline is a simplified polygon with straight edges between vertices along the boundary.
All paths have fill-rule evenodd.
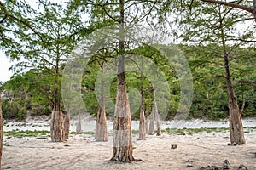
<path id="1" fill-rule="evenodd" d="M 101 64 L 101 71 L 103 73 L 104 71 L 104 65 L 103 62 Z M 101 94 L 100 94 L 100 104 L 99 109 L 97 112 L 97 118 L 96 118 L 96 134 L 95 139 L 96 141 L 108 141 L 108 129 L 107 129 L 107 117 L 106 117 L 106 111 L 105 111 L 105 96 L 104 96 L 104 82 L 101 78 Z"/>

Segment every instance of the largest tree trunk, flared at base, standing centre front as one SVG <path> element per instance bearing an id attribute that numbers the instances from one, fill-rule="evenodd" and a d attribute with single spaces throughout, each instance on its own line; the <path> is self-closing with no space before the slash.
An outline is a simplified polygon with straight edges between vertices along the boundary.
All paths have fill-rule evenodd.
<path id="1" fill-rule="evenodd" d="M 118 89 L 116 96 L 116 105 L 113 117 L 113 156 L 112 161 L 134 161 L 132 156 L 131 139 L 131 112 L 126 92 L 125 82 L 125 0 L 119 0 L 119 54 L 118 60 Z"/>

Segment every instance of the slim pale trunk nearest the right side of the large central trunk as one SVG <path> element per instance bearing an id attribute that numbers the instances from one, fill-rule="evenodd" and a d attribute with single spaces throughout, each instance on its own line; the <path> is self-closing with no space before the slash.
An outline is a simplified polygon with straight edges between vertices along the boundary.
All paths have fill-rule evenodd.
<path id="1" fill-rule="evenodd" d="M 142 106 L 140 112 L 140 125 L 139 125 L 139 138 L 140 140 L 144 140 L 146 138 L 146 127 L 145 127 L 145 113 L 144 113 L 144 102 L 143 102 L 143 89 L 141 90 L 142 94 Z"/>

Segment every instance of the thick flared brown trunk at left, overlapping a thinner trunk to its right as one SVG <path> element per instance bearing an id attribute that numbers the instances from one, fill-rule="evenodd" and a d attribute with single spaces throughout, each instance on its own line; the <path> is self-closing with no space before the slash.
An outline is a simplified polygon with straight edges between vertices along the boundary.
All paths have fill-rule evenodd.
<path id="1" fill-rule="evenodd" d="M 52 142 L 63 142 L 64 140 L 64 123 L 60 99 L 55 99 L 55 106 L 51 113 L 50 137 Z"/>

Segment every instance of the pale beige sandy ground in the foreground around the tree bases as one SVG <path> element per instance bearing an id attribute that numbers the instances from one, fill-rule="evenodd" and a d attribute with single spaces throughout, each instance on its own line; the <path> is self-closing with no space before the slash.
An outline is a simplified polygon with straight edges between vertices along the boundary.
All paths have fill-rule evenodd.
<path id="1" fill-rule="evenodd" d="M 93 135 L 71 135 L 64 143 L 50 139 L 6 138 L 3 140 L 3 169 L 198 169 L 230 162 L 230 169 L 244 164 L 256 169 L 256 130 L 246 133 L 247 144 L 228 146 L 229 133 L 193 133 L 192 135 L 163 134 L 136 140 L 133 135 L 133 156 L 143 162 L 113 163 L 113 136 L 108 142 L 95 142 Z M 177 144 L 177 149 L 171 149 Z M 193 161 L 187 167 L 186 161 Z"/>

